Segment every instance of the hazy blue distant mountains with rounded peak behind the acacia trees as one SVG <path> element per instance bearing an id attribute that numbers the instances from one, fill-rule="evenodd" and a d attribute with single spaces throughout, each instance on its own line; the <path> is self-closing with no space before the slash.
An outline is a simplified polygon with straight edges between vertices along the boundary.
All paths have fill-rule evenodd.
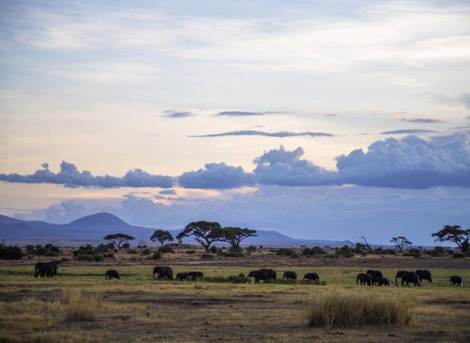
<path id="1" fill-rule="evenodd" d="M 151 243 L 150 236 L 155 229 L 129 225 L 110 213 L 97 213 L 84 216 L 68 224 L 52 224 L 45 221 L 21 221 L 0 215 L 0 241 L 15 244 L 55 243 L 60 245 L 79 245 L 84 243 L 102 243 L 106 234 L 131 234 L 136 240 L 143 239 Z M 169 230 L 173 237 L 181 230 Z M 294 239 L 285 234 L 269 230 L 257 230 L 258 236 L 245 239 L 243 244 L 256 245 L 344 245 L 340 241 L 321 241 L 312 239 Z M 183 239 L 185 243 L 194 243 L 191 237 Z"/>

